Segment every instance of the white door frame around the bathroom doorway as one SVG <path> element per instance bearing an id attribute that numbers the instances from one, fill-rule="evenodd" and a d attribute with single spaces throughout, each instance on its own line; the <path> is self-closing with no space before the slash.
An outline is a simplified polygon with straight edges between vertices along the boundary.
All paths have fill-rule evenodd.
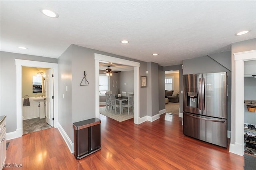
<path id="1" fill-rule="evenodd" d="M 30 61 L 15 59 L 16 63 L 16 113 L 17 113 L 17 129 L 16 134 L 12 134 L 10 138 L 18 138 L 23 134 L 22 126 L 22 66 L 41 67 L 53 69 L 54 73 L 54 127 L 58 125 L 58 64 L 46 63 L 40 61 Z"/>

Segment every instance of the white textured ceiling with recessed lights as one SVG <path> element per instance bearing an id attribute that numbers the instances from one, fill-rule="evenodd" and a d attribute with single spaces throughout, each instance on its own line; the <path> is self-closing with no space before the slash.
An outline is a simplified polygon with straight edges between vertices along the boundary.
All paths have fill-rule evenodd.
<path id="1" fill-rule="evenodd" d="M 0 50 L 13 53 L 58 58 L 76 44 L 167 66 L 256 38 L 255 0 L 0 3 Z M 59 17 L 44 16 L 44 8 Z M 243 30 L 251 31 L 234 36 Z M 124 39 L 130 43 L 121 44 Z"/>

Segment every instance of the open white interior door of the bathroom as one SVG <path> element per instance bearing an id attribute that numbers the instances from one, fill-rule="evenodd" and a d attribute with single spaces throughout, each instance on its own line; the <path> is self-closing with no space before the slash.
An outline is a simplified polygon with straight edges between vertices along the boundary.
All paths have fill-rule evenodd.
<path id="1" fill-rule="evenodd" d="M 48 69 L 45 71 L 45 109 L 46 109 L 46 118 L 45 121 L 52 127 L 54 126 L 54 112 L 53 112 L 53 69 Z"/>

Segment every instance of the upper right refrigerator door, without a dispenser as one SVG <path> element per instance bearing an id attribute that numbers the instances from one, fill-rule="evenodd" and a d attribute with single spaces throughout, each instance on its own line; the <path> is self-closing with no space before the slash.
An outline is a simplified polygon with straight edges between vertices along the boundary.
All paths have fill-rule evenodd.
<path id="1" fill-rule="evenodd" d="M 202 74 L 202 115 L 227 119 L 226 72 Z"/>

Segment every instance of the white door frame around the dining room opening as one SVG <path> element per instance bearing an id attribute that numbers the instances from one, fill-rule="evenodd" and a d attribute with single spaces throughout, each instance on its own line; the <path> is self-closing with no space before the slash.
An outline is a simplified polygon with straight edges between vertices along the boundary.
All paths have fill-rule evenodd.
<path id="1" fill-rule="evenodd" d="M 95 117 L 100 117 L 100 96 L 99 96 L 99 75 L 100 75 L 100 61 L 108 61 L 122 65 L 129 65 L 134 67 L 134 123 L 140 124 L 140 63 L 107 55 L 94 53 L 95 59 Z"/>

